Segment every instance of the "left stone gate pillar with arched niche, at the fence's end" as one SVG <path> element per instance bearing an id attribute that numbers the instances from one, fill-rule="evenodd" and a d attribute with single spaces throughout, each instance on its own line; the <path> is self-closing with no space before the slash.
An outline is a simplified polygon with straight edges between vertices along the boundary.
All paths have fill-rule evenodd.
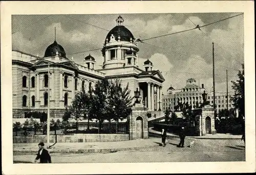
<path id="1" fill-rule="evenodd" d="M 130 140 L 148 139 L 147 108 L 136 103 L 132 107 L 132 114 L 129 116 Z"/>

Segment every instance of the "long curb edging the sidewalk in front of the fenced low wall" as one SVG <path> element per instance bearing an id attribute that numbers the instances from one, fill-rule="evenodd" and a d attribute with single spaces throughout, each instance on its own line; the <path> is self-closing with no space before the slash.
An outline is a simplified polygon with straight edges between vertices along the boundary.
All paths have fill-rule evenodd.
<path id="1" fill-rule="evenodd" d="M 152 146 L 141 146 L 141 147 L 131 147 L 131 148 L 103 148 L 103 149 L 47 149 L 50 153 L 84 153 L 84 152 L 105 152 L 111 153 L 116 151 L 122 150 L 134 150 L 134 149 L 141 149 L 141 148 L 150 148 L 150 147 L 157 147 L 159 145 L 152 145 Z M 31 152 L 36 153 L 37 149 L 13 149 L 13 152 Z"/>

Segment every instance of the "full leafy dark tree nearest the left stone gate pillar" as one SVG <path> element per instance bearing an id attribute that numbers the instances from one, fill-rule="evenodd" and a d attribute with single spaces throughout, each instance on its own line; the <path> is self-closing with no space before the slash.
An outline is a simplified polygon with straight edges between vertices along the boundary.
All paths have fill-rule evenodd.
<path id="1" fill-rule="evenodd" d="M 128 88 L 121 87 L 119 80 L 109 81 L 107 79 L 99 80 L 92 90 L 91 110 L 89 115 L 99 121 L 100 132 L 102 122 L 111 119 L 125 119 L 131 114 L 132 97 Z"/>

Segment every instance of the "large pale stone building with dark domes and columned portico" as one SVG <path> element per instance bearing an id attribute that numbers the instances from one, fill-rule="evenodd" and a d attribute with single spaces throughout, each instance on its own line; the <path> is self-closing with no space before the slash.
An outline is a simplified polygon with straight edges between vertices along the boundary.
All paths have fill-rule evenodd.
<path id="1" fill-rule="evenodd" d="M 71 105 L 76 93 L 81 90 L 89 91 L 98 80 L 104 78 L 120 79 L 123 87 L 129 84 L 131 96 L 134 96 L 133 92 L 138 88 L 140 103 L 148 112 L 161 108 L 164 78 L 160 71 L 153 70 L 150 60 L 144 62 L 144 68 L 139 68 L 138 41 L 124 27 L 123 22 L 124 19 L 118 16 L 116 26 L 104 38 L 100 70 L 94 69 L 96 59 L 91 54 L 83 58 L 82 64 L 76 63 L 73 57 L 66 56 L 62 47 L 65 43 L 61 43 L 61 46 L 56 40 L 46 48 L 44 57 L 13 50 L 13 118 L 24 118 L 28 112 L 33 111 L 47 113 L 48 105 L 51 108 L 50 116 L 61 118 L 65 107 Z M 155 94 L 157 100 L 154 100 Z"/>

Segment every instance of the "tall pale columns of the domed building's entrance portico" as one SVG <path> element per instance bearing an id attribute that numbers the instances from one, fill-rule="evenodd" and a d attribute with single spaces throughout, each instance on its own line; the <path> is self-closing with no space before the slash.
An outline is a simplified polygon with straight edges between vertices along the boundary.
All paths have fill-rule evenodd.
<path id="1" fill-rule="evenodd" d="M 148 110 L 150 111 L 154 111 L 154 86 L 155 84 L 152 82 L 147 82 L 147 107 Z M 159 110 L 159 108 L 162 110 L 162 87 L 156 85 L 157 87 L 157 111 Z M 160 101 L 160 103 L 159 103 Z"/>

